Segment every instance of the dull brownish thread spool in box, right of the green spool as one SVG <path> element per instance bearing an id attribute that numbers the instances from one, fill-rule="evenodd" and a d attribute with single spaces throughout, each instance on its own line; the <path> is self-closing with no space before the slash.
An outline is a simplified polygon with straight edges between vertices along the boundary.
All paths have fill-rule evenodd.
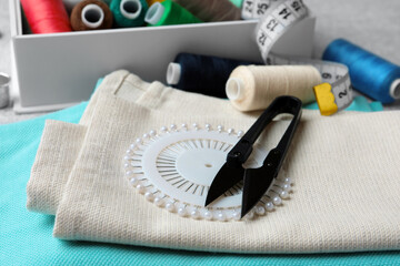
<path id="1" fill-rule="evenodd" d="M 174 0 L 202 21 L 240 20 L 241 10 L 229 0 Z"/>

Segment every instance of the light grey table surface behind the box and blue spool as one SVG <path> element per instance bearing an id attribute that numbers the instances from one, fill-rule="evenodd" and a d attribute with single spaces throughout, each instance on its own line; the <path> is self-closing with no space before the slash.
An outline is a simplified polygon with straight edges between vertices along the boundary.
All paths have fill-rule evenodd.
<path id="1" fill-rule="evenodd" d="M 314 58 L 321 57 L 329 42 L 344 38 L 400 65 L 400 0 L 304 0 L 304 3 L 317 17 Z M 0 0 L 0 72 L 11 74 L 9 21 L 8 0 Z M 400 102 L 384 109 L 400 109 Z M 14 114 L 10 104 L 0 110 L 0 124 L 38 115 Z"/>

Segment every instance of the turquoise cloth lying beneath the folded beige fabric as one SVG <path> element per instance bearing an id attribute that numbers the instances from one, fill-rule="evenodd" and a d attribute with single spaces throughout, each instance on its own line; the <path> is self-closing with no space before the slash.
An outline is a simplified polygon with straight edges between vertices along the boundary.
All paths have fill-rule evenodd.
<path id="1" fill-rule="evenodd" d="M 54 216 L 27 211 L 26 186 L 44 121 L 78 123 L 86 106 L 81 103 L 30 121 L 0 125 L 0 265 L 400 265 L 400 252 L 236 255 L 52 237 Z"/>

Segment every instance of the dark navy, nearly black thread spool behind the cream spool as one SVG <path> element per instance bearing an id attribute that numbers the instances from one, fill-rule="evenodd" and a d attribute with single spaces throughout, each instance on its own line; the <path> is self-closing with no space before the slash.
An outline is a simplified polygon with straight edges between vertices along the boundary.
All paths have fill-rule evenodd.
<path id="1" fill-rule="evenodd" d="M 179 53 L 168 65 L 167 83 L 176 89 L 227 99 L 226 83 L 239 65 L 260 64 L 192 53 Z"/>

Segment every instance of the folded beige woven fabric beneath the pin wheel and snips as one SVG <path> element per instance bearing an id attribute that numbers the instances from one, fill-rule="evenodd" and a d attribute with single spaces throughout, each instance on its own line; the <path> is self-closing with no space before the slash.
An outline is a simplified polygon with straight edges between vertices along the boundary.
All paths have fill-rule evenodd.
<path id="1" fill-rule="evenodd" d="M 121 72 L 116 72 L 108 81 L 120 75 Z M 73 134 L 60 136 L 71 144 L 76 140 L 81 143 L 69 177 L 54 182 L 54 176 L 48 176 L 46 168 L 36 163 L 32 178 L 37 173 L 37 180 L 53 182 L 52 186 L 62 194 L 60 203 L 54 204 L 56 237 L 243 253 L 400 247 L 400 182 L 396 161 L 400 153 L 397 137 L 400 113 L 321 117 L 304 110 L 287 162 L 288 175 L 296 183 L 291 200 L 250 221 L 196 221 L 157 207 L 130 185 L 122 167 L 127 147 L 136 137 L 162 125 L 196 122 L 247 130 L 256 116 L 238 113 L 228 101 L 176 91 L 160 83 L 148 85 L 139 95 L 140 90 L 129 79 L 137 76 L 126 75 L 122 85 L 107 83 L 110 91 L 97 93 L 96 106 L 88 115 L 90 123 L 76 125 L 79 130 Z M 130 90 L 137 96 L 131 98 Z M 287 122 L 277 124 L 283 126 Z M 58 123 L 52 122 L 51 126 L 54 131 L 49 127 L 44 132 L 38 158 L 52 154 L 71 165 L 79 149 L 72 144 L 71 154 L 58 154 L 52 147 L 60 142 L 52 133 L 57 134 Z M 269 137 L 273 143 L 280 135 L 271 132 Z M 34 198 L 34 193 L 40 192 L 31 191 L 28 197 Z"/>

